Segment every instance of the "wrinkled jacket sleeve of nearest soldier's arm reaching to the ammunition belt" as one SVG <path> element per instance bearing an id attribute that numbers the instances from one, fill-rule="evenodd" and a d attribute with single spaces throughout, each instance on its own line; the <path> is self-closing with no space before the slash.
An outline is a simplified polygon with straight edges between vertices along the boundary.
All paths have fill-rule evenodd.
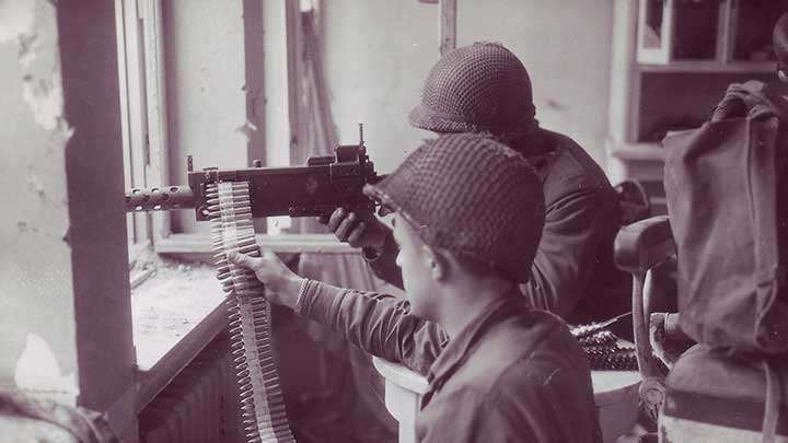
<path id="1" fill-rule="evenodd" d="M 449 337 L 409 314 L 394 296 L 309 281 L 298 313 L 325 325 L 364 351 L 426 375 Z"/>

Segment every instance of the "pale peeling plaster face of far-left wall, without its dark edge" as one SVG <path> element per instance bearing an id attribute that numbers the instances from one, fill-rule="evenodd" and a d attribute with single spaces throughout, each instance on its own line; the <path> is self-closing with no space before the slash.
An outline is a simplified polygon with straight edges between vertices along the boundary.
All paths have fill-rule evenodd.
<path id="1" fill-rule="evenodd" d="M 0 384 L 13 384 L 28 333 L 54 350 L 59 365 L 42 373 L 77 368 L 63 168 L 71 130 L 62 118 L 51 2 L 0 2 Z M 34 358 L 34 366 L 47 360 Z"/>

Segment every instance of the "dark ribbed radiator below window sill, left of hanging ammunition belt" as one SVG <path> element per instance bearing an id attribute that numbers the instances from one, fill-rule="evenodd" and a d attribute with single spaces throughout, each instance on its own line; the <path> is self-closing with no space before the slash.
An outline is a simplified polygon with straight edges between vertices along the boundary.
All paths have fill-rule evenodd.
<path id="1" fill-rule="evenodd" d="M 240 442 L 230 368 L 228 341 L 215 340 L 139 415 L 140 442 Z"/>

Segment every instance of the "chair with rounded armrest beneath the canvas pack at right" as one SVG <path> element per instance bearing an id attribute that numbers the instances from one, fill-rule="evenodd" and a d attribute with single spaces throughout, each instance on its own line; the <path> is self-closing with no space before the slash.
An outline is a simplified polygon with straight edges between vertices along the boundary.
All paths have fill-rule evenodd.
<path id="1" fill-rule="evenodd" d="M 652 289 L 651 270 L 675 254 L 668 218 L 651 218 L 623 228 L 616 237 L 615 250 L 616 264 L 634 277 L 633 329 L 644 380 L 639 398 L 658 420 L 659 441 L 788 442 L 785 419 L 764 417 L 768 401 L 765 393 L 768 389 L 786 392 L 788 361 L 776 360 L 773 380 L 767 381 L 768 371 L 765 375 L 764 370 L 748 358 L 730 357 L 694 345 L 677 327 L 680 314 L 653 312 L 659 294 Z M 703 371 L 702 376 L 698 371 Z M 778 407 L 781 413 L 786 405 L 788 401 L 783 399 Z M 779 420 L 775 440 L 766 440 L 761 432 L 768 420 Z M 648 438 L 656 441 L 658 435 Z"/>

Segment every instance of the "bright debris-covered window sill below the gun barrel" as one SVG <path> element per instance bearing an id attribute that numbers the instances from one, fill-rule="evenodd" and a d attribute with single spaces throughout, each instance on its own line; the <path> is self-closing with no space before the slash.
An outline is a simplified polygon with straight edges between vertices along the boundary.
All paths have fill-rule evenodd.
<path id="1" fill-rule="evenodd" d="M 208 266 L 162 266 L 132 291 L 137 412 L 224 329 L 223 301 Z"/>

